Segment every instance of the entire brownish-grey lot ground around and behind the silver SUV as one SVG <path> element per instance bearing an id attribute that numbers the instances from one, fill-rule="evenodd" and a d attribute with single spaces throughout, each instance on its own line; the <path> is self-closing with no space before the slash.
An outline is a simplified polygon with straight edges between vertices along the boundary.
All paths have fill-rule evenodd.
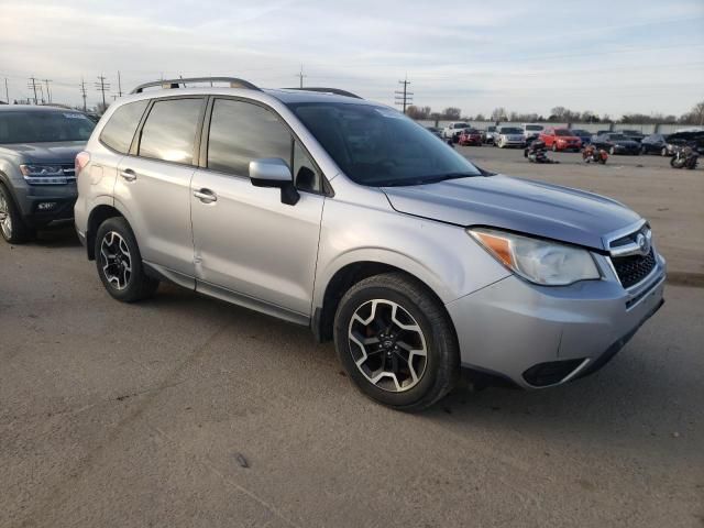
<path id="1" fill-rule="evenodd" d="M 463 151 L 622 199 L 702 272 L 702 170 Z M 0 244 L 0 527 L 702 527 L 704 288 L 666 297 L 591 377 L 405 415 L 305 328 L 170 286 L 112 300 L 70 229 Z"/>

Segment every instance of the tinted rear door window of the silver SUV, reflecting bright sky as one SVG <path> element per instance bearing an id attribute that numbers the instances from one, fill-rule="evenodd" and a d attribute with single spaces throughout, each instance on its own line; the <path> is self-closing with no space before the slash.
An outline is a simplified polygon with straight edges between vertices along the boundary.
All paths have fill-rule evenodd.
<path id="1" fill-rule="evenodd" d="M 156 101 L 140 141 L 140 156 L 191 164 L 202 99 Z"/>

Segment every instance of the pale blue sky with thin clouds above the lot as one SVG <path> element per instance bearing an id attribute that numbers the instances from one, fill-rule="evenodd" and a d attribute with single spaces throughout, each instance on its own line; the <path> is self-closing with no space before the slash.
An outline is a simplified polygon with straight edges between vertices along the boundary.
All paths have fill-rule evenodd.
<path id="1" fill-rule="evenodd" d="M 346 89 L 464 116 L 681 114 L 704 100 L 704 0 L 588 2 L 0 0 L 0 99 L 50 79 L 88 106 L 140 82 L 234 76 L 257 86 Z M 44 96 L 46 97 L 44 88 Z"/>

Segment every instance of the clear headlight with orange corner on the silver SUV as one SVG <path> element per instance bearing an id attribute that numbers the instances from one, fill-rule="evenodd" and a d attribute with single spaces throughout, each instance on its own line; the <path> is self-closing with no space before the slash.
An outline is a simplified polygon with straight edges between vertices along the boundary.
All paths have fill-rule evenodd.
<path id="1" fill-rule="evenodd" d="M 475 228 L 468 232 L 498 262 L 531 283 L 566 286 L 601 278 L 586 250 L 494 229 Z"/>

